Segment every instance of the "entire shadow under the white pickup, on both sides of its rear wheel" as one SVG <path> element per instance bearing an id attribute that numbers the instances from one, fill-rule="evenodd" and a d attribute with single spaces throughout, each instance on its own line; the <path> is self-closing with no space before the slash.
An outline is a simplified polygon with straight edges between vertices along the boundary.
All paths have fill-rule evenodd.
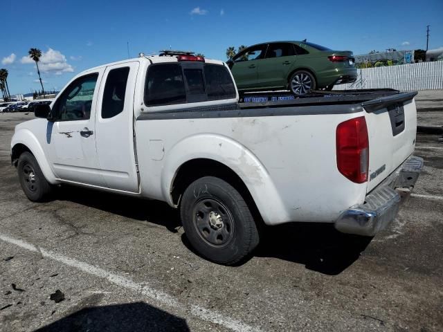
<path id="1" fill-rule="evenodd" d="M 56 199 L 107 211 L 138 221 L 162 225 L 171 232 L 181 226 L 179 211 L 161 201 L 148 201 L 87 190 L 80 187 L 63 187 Z M 255 250 L 257 257 L 275 257 L 298 264 L 325 275 L 338 275 L 359 259 L 372 238 L 343 234 L 334 225 L 326 223 L 287 223 L 264 226 L 264 236 Z M 195 252 L 186 239 L 183 244 Z M 196 255 L 197 252 L 195 252 Z M 244 263 L 244 262 L 243 262 Z"/>

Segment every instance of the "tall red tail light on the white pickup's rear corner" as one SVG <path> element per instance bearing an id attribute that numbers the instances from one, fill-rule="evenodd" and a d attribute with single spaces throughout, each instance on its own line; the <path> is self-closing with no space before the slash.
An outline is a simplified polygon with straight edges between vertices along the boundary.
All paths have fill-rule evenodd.
<path id="1" fill-rule="evenodd" d="M 354 183 L 368 181 L 369 138 L 364 116 L 338 124 L 336 154 L 341 174 Z"/>

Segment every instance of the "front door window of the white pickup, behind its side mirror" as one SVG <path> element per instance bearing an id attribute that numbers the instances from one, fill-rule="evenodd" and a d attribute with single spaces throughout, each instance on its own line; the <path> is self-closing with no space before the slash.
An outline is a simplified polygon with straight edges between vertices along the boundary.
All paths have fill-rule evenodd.
<path id="1" fill-rule="evenodd" d="M 55 120 L 88 120 L 98 74 L 79 77 L 72 82 L 54 104 L 52 113 Z"/>

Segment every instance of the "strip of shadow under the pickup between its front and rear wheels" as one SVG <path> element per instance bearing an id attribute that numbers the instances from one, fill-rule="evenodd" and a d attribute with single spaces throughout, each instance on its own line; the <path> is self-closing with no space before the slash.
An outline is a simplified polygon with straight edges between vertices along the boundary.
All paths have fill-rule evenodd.
<path id="1" fill-rule="evenodd" d="M 71 186 L 61 187 L 55 192 L 53 198 L 86 205 L 138 221 L 149 221 L 162 225 L 174 233 L 181 226 L 179 211 L 161 201 L 150 201 Z"/>

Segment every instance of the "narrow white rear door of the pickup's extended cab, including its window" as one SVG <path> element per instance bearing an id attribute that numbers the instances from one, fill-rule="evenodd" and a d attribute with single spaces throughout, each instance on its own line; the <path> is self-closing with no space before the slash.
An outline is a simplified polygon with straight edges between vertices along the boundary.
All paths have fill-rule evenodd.
<path id="1" fill-rule="evenodd" d="M 108 66 L 96 112 L 96 146 L 105 186 L 138 192 L 134 149 L 134 89 L 138 62 Z"/>

